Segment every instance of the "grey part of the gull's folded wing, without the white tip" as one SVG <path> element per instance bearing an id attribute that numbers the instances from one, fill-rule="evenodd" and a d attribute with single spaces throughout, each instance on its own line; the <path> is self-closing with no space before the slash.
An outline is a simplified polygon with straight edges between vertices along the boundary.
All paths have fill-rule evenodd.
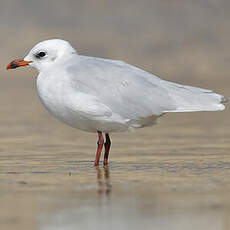
<path id="1" fill-rule="evenodd" d="M 176 109 L 161 86 L 162 80 L 141 69 L 120 61 L 85 56 L 73 63 L 67 71 L 74 89 L 96 96 L 124 118 L 138 119 Z"/>

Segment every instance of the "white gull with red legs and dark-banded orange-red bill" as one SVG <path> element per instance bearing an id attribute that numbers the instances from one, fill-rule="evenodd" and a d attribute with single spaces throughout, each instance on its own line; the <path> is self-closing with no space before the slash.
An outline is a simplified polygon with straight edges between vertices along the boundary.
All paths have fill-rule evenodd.
<path id="1" fill-rule="evenodd" d="M 60 39 L 38 43 L 7 69 L 27 65 L 38 70 L 39 98 L 54 117 L 98 133 L 95 165 L 104 144 L 102 133 L 106 165 L 109 133 L 151 126 L 165 113 L 224 110 L 227 102 L 211 90 L 165 81 L 122 61 L 79 55 Z"/>

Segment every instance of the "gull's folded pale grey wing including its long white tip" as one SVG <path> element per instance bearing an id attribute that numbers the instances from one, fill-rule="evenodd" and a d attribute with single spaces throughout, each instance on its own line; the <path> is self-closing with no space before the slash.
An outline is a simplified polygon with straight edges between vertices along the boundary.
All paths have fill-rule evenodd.
<path id="1" fill-rule="evenodd" d="M 121 61 L 86 56 L 77 59 L 67 67 L 74 90 L 94 95 L 124 118 L 224 109 L 224 97 L 211 90 L 164 81 Z"/>

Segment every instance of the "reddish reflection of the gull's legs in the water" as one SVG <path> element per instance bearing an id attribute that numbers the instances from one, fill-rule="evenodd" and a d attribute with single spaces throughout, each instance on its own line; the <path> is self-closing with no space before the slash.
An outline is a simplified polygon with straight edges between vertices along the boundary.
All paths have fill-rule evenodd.
<path id="1" fill-rule="evenodd" d="M 112 191 L 109 166 L 103 168 L 96 166 L 95 168 L 97 170 L 98 194 L 108 196 Z"/>

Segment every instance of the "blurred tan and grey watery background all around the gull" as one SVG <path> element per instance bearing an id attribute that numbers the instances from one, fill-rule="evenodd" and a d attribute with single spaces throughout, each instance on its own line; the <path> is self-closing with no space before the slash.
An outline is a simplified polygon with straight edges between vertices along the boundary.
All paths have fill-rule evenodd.
<path id="1" fill-rule="evenodd" d="M 45 111 L 35 70 L 5 70 L 61 38 L 230 98 L 229 10 L 227 0 L 0 0 L 0 229 L 229 229 L 228 108 L 114 134 L 111 164 L 95 169 L 96 135 Z"/>

